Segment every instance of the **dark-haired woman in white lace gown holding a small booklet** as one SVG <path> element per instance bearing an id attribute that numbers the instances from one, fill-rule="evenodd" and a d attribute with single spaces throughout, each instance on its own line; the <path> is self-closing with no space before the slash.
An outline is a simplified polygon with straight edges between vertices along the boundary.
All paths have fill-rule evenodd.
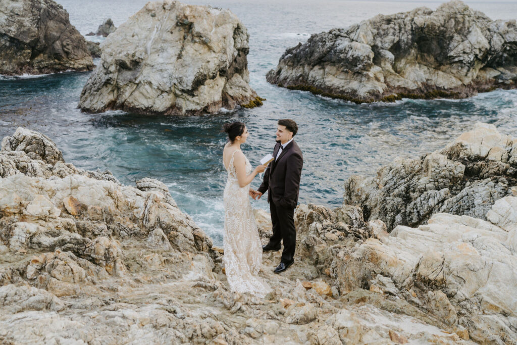
<path id="1" fill-rule="evenodd" d="M 241 122 L 225 124 L 229 142 L 224 146 L 223 164 L 228 172 L 224 188 L 224 269 L 232 291 L 265 296 L 271 289 L 258 271 L 262 261 L 262 245 L 251 209 L 250 183 L 266 166 L 251 171 L 248 158 L 240 145 L 248 138 L 248 129 Z"/>

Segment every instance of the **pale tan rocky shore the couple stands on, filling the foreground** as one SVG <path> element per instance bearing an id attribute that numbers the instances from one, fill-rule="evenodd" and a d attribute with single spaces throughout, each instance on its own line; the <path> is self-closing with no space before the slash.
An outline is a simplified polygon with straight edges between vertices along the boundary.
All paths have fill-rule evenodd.
<path id="1" fill-rule="evenodd" d="M 477 125 L 457 152 L 492 138 L 493 159 L 510 140 L 494 131 Z M 484 219 L 433 213 L 391 233 L 358 205 L 299 205 L 295 265 L 275 275 L 280 253 L 265 253 L 260 299 L 228 290 L 223 250 L 161 182 L 124 186 L 62 156 L 23 128 L 2 142 L 3 343 L 517 343 L 510 194 Z M 255 217 L 266 240 L 268 214 Z"/>

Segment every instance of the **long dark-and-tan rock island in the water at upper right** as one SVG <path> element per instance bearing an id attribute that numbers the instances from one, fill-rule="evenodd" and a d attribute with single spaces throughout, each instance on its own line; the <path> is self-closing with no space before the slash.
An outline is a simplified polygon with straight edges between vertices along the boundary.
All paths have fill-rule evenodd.
<path id="1" fill-rule="evenodd" d="M 379 14 L 287 49 L 266 79 L 358 103 L 515 88 L 517 25 L 455 0 L 436 11 Z"/>

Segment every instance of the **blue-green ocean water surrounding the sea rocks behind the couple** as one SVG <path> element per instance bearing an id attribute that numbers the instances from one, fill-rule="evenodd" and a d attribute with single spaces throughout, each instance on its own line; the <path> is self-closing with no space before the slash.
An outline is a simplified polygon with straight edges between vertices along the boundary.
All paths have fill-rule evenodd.
<path id="1" fill-rule="evenodd" d="M 111 17 L 116 26 L 142 8 L 142 0 L 58 1 L 70 22 L 85 35 Z M 206 2 L 191 4 L 205 5 Z M 110 111 L 84 114 L 77 109 L 89 73 L 66 72 L 21 78 L 0 76 L 0 137 L 18 126 L 52 138 L 67 162 L 83 169 L 109 169 L 134 185 L 153 177 L 164 182 L 178 206 L 222 243 L 222 193 L 226 173 L 222 147 L 225 122 L 242 121 L 251 133 L 243 151 L 253 166 L 275 144 L 276 122 L 293 118 L 295 140 L 305 159 L 300 202 L 339 206 L 343 183 L 353 174 L 371 176 L 397 156 L 418 157 L 445 146 L 477 121 L 515 136 L 517 91 L 497 90 L 462 100 L 402 100 L 353 104 L 270 85 L 265 74 L 276 67 L 286 48 L 312 33 L 346 27 L 375 16 L 436 8 L 435 1 L 213 1 L 230 8 L 250 34 L 248 68 L 251 86 L 267 99 L 255 109 L 196 117 L 140 116 Z M 517 2 L 466 3 L 492 19 L 517 18 Z M 101 41 L 102 38 L 87 37 Z M 98 61 L 97 61 L 98 62 Z M 258 178 L 253 182 L 257 187 Z M 268 209 L 265 200 L 253 207 Z"/>

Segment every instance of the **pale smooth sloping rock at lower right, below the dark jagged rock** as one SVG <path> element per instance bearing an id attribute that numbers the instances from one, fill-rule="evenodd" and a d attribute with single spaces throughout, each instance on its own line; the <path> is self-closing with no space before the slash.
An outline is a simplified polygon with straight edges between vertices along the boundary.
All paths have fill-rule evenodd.
<path id="1" fill-rule="evenodd" d="M 475 341 L 517 343 L 517 227 L 510 221 L 517 207 L 508 205 L 517 198 L 494 203 L 491 214 L 506 215 L 494 216 L 496 223 L 439 213 L 418 229 L 398 226 L 381 241 L 367 239 L 337 256 L 340 290 L 378 284 L 381 276 L 392 282 L 392 294 L 447 325 L 466 327 Z"/>

